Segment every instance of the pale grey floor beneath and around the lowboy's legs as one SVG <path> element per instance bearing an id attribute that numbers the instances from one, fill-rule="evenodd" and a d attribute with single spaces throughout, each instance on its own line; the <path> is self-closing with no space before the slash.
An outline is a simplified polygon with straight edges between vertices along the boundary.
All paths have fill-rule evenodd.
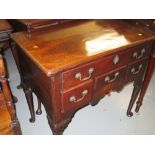
<path id="1" fill-rule="evenodd" d="M 22 89 L 17 89 L 20 76 L 12 53 L 6 51 L 5 58 L 10 74 L 10 85 L 13 94 L 18 98 L 16 103 L 23 135 L 52 135 L 46 119 L 44 108 L 42 115 L 36 115 L 36 122 L 30 123 L 29 110 Z M 144 104 L 139 113 L 129 118 L 126 110 L 130 100 L 133 84 L 129 84 L 120 93 L 113 92 L 104 97 L 96 106 L 86 106 L 79 110 L 72 122 L 65 129 L 64 135 L 100 135 L 100 134 L 155 134 L 155 72 L 144 98 Z M 34 95 L 36 109 L 36 97 Z M 135 107 L 133 108 L 133 110 Z"/>

